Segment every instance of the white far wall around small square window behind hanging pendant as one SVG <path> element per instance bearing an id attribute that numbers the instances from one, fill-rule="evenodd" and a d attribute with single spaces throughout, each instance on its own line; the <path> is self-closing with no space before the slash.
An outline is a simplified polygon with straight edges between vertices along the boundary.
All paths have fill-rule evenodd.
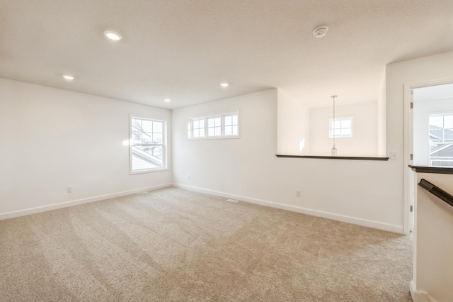
<path id="1" fill-rule="evenodd" d="M 278 100 L 280 102 L 280 99 Z M 336 106 L 336 116 L 353 117 L 353 137 L 336 138 L 338 156 L 377 157 L 377 102 Z M 332 107 L 311 108 L 311 155 L 331 156 L 333 139 L 328 137 Z"/>

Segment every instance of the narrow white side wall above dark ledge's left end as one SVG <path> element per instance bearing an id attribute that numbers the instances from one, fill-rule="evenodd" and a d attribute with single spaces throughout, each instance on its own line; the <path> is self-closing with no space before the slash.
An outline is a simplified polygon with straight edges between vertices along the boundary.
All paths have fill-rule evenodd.
<path id="1" fill-rule="evenodd" d="M 277 154 L 310 154 L 310 109 L 277 89 Z"/>

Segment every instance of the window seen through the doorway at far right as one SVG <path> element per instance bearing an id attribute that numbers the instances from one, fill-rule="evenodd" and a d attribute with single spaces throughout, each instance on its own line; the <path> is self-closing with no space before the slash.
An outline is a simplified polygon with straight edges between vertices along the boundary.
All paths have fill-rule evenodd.
<path id="1" fill-rule="evenodd" d="M 453 166 L 453 113 L 430 114 L 430 165 Z"/>

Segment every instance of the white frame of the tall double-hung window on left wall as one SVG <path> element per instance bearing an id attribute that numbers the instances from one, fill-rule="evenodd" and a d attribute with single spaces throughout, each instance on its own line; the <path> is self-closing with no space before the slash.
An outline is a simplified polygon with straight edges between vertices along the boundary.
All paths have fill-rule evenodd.
<path id="1" fill-rule="evenodd" d="M 161 143 L 155 143 L 155 142 L 150 142 L 150 143 L 140 143 L 140 144 L 134 144 L 132 141 L 132 120 L 137 119 L 137 120 L 142 120 L 142 121 L 151 121 L 151 122 L 159 122 L 162 123 L 162 142 Z M 150 145 L 150 146 L 161 146 L 162 147 L 162 167 L 154 167 L 154 168 L 149 168 L 149 169 L 139 169 L 139 170 L 133 170 L 132 169 L 132 147 L 137 146 L 137 145 Z M 135 116 L 130 114 L 129 117 L 129 172 L 131 175 L 133 174 L 143 174 L 143 173 L 151 173 L 151 172 L 159 172 L 159 171 L 166 171 L 168 170 L 168 164 L 167 164 L 167 121 L 162 120 L 159 118 L 145 118 L 141 116 Z"/>

